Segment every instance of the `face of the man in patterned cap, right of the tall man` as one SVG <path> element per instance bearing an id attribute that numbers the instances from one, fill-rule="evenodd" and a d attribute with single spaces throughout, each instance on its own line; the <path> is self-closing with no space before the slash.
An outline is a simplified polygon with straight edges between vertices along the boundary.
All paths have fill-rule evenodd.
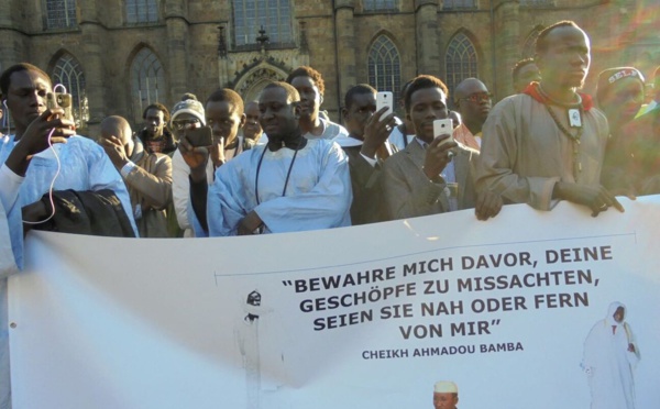
<path id="1" fill-rule="evenodd" d="M 626 77 L 615 81 L 601 96 L 600 104 L 610 125 L 630 122 L 644 102 L 644 85 L 637 78 Z"/>

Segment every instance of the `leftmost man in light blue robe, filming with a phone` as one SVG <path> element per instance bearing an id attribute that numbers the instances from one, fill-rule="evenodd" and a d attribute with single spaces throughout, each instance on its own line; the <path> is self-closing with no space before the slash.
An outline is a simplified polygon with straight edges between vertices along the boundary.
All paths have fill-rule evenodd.
<path id="1" fill-rule="evenodd" d="M 34 225 L 24 222 L 41 223 L 54 215 L 42 200 L 51 188 L 112 192 L 132 235 L 138 231 L 127 187 L 103 148 L 76 135 L 62 108 L 47 107 L 53 92 L 48 75 L 31 64 L 16 64 L 0 76 L 0 89 L 15 125 L 13 135 L 0 140 L 0 306 L 7 306 L 7 277 L 23 267 L 23 226 Z M 0 408 L 9 407 L 11 399 L 7 320 L 7 309 L 0 307 Z"/>

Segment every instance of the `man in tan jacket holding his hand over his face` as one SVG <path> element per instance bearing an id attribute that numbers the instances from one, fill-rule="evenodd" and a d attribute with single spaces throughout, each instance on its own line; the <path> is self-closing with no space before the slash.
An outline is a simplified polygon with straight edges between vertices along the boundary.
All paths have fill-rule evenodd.
<path id="1" fill-rule="evenodd" d="M 99 143 L 119 170 L 131 196 L 141 237 L 168 237 L 167 208 L 172 204 L 172 159 L 148 153 L 122 117 L 101 121 Z"/>

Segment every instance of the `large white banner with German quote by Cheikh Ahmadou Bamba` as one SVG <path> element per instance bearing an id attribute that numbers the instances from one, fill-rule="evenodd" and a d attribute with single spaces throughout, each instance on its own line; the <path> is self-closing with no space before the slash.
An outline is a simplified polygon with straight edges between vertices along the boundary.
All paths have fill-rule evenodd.
<path id="1" fill-rule="evenodd" d="M 623 202 L 250 237 L 31 234 L 10 279 L 14 409 L 432 408 L 439 380 L 461 409 L 658 408 L 660 198 Z"/>

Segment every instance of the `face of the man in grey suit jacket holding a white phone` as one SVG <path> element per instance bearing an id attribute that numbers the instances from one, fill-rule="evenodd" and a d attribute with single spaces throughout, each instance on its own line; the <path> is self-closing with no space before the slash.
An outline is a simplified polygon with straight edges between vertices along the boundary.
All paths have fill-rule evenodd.
<path id="1" fill-rule="evenodd" d="M 410 112 L 406 117 L 415 128 L 415 134 L 427 143 L 433 141 L 433 121 L 446 119 L 447 96 L 438 88 L 422 88 L 410 96 Z"/>

